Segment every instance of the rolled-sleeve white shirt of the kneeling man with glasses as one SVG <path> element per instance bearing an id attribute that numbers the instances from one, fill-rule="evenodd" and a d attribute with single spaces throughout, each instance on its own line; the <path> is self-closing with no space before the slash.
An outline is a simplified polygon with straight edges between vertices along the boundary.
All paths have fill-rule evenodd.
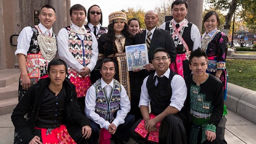
<path id="1" fill-rule="evenodd" d="M 157 76 L 157 73 L 155 72 L 154 78 Z M 160 77 L 166 77 L 169 79 L 170 76 L 170 68 Z M 148 76 L 144 79 L 142 87 L 141 87 L 141 93 L 140 93 L 140 106 L 148 106 L 149 102 L 151 101 L 149 95 L 148 95 L 148 89 L 146 87 L 146 83 L 148 80 Z M 158 84 L 158 80 L 156 79 L 155 86 Z M 172 87 L 172 97 L 170 106 L 177 108 L 179 111 L 184 106 L 184 102 L 187 97 L 187 87 L 184 78 L 182 76 L 176 74 L 171 81 L 171 87 Z"/>

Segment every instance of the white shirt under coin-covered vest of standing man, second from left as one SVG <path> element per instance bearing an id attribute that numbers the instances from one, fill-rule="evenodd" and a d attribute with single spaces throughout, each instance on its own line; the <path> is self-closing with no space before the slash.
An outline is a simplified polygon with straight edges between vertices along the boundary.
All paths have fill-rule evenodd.
<path id="1" fill-rule="evenodd" d="M 78 26 L 76 26 L 75 24 L 71 24 L 71 26 L 77 31 L 79 29 Z M 84 28 L 84 26 L 82 26 L 82 28 L 84 30 L 86 30 Z M 96 37 L 94 36 L 93 33 L 92 34 L 92 57 L 90 59 L 90 64 L 88 64 L 86 67 L 88 67 L 90 69 L 90 71 L 92 72 L 92 70 L 94 69 L 94 66 L 96 65 L 96 62 L 98 60 L 98 42 L 96 40 Z M 81 40 L 84 39 L 83 35 L 77 34 L 79 36 L 79 38 Z M 84 68 L 84 66 L 82 64 L 80 64 L 75 58 L 74 56 L 69 52 L 68 49 L 68 31 L 66 30 L 66 28 L 62 28 L 59 33 L 58 33 L 58 38 L 57 38 L 57 45 L 58 45 L 58 54 L 59 57 L 64 60 L 68 66 L 70 66 L 71 68 L 74 68 L 76 71 L 81 72 L 82 68 Z"/>

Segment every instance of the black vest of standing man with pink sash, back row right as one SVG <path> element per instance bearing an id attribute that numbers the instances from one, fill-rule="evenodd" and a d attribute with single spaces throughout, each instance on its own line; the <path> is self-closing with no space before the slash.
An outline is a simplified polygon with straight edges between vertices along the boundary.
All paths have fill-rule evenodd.
<path id="1" fill-rule="evenodd" d="M 168 30 L 170 32 L 171 30 L 170 30 L 169 26 L 170 26 L 170 21 L 165 23 L 165 30 Z M 192 51 L 193 46 L 194 46 L 194 42 L 191 39 L 191 28 L 192 28 L 192 23 L 188 22 L 188 27 L 184 28 L 184 32 L 182 34 L 182 38 L 187 43 L 189 51 Z M 173 32 L 173 30 L 172 30 L 172 32 Z M 172 32 L 171 32 L 171 35 L 172 35 Z M 184 54 L 186 52 L 186 50 L 183 51 L 183 44 L 177 45 L 176 52 L 177 52 L 177 54 Z"/>

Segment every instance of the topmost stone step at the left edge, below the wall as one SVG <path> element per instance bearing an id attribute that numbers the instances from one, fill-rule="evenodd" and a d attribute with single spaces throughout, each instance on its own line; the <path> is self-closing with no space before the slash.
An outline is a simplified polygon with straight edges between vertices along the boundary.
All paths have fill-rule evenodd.
<path id="1" fill-rule="evenodd" d="M 6 69 L 0 70 L 0 88 L 9 86 L 18 82 L 20 78 L 20 69 Z"/>

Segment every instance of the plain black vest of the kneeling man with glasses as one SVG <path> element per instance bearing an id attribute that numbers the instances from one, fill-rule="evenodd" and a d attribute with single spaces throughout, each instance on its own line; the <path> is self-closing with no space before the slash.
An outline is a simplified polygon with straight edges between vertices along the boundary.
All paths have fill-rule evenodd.
<path id="1" fill-rule="evenodd" d="M 154 78 L 154 73 L 148 76 L 146 87 L 151 98 L 151 112 L 155 116 L 162 113 L 170 105 L 172 97 L 171 81 L 175 75 L 175 72 L 170 71 L 169 79 L 164 76 L 162 82 L 157 86 L 155 86 L 156 78 Z"/>

